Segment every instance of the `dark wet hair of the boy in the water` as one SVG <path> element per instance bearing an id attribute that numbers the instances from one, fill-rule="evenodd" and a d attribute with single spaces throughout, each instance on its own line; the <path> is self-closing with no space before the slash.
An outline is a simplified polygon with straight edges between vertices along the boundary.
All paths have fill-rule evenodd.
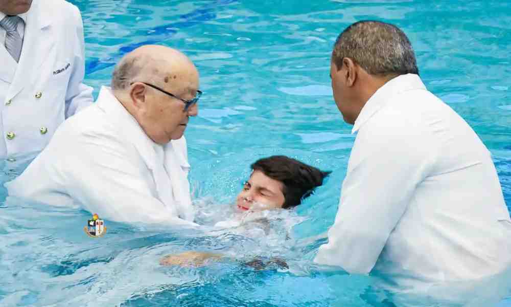
<path id="1" fill-rule="evenodd" d="M 284 205 L 288 209 L 298 206 L 301 200 L 310 196 L 314 189 L 323 184 L 330 171 L 322 171 L 286 156 L 271 156 L 259 159 L 250 165 L 252 171 L 259 170 L 271 179 L 284 185 Z"/>

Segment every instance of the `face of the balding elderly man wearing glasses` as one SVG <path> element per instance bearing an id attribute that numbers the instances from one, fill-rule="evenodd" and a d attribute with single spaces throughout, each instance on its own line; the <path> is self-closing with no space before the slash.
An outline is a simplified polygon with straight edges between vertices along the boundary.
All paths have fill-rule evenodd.
<path id="1" fill-rule="evenodd" d="M 188 69 L 169 74 L 162 82 L 154 85 L 178 98 L 190 100 L 195 98 L 199 89 L 199 74 L 191 64 Z M 198 113 L 197 104 L 185 110 L 185 103 L 180 99 L 150 86 L 146 89 L 147 101 L 143 120 L 146 134 L 158 144 L 167 144 L 181 138 L 190 116 Z"/>

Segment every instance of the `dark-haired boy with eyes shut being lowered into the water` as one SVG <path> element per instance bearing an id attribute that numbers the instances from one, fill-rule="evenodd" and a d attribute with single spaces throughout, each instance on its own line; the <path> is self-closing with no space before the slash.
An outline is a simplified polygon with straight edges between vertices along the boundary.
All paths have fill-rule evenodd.
<path id="1" fill-rule="evenodd" d="M 252 173 L 236 198 L 239 212 L 291 209 L 310 196 L 314 189 L 323 184 L 330 171 L 321 171 L 313 166 L 286 156 L 263 158 L 250 165 Z M 238 223 L 234 226 L 239 225 Z M 219 222 L 216 226 L 233 226 Z M 167 255 L 160 260 L 161 265 L 201 266 L 208 260 L 222 258 L 221 254 L 204 252 L 184 252 Z M 259 267 L 260 260 L 257 262 Z M 270 260 L 278 264 L 282 260 Z M 248 265 L 252 266 L 249 262 Z M 283 262 L 283 261 L 282 261 Z M 285 262 L 284 262 L 285 263 Z"/>

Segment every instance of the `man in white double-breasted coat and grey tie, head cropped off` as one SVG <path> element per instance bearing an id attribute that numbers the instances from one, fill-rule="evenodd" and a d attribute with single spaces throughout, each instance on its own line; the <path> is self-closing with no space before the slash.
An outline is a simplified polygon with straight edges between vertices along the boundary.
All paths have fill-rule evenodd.
<path id="1" fill-rule="evenodd" d="M 66 118 L 92 103 L 84 59 L 76 6 L 0 0 L 0 159 L 39 152 Z"/>

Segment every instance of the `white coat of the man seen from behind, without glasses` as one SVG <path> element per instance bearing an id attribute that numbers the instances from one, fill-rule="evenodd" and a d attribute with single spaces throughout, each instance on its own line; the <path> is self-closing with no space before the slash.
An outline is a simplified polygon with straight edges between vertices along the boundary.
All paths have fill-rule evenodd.
<path id="1" fill-rule="evenodd" d="M 472 280 L 511 260 L 511 224 L 491 153 L 419 76 L 365 104 L 339 209 L 315 262 L 377 269 L 403 286 Z"/>

